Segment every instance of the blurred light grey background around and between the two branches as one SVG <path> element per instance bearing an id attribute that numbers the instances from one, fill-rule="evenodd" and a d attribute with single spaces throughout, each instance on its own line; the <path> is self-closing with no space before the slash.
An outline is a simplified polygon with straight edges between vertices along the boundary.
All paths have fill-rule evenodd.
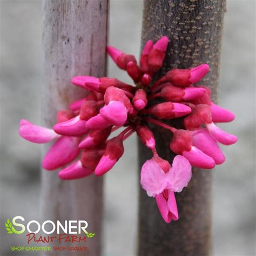
<path id="1" fill-rule="evenodd" d="M 110 6 L 109 43 L 138 56 L 143 2 L 111 0 Z M 41 120 L 42 2 L 1 0 L 0 17 L 2 230 L 10 215 L 26 219 L 39 215 L 41 149 L 18 136 L 18 122 Z M 224 24 L 219 105 L 237 117 L 220 127 L 239 140 L 225 147 L 226 161 L 213 171 L 213 255 L 250 256 L 255 255 L 255 2 L 227 0 Z M 111 61 L 109 76 L 129 81 Z M 124 157 L 105 177 L 105 256 L 135 255 L 135 146 L 132 136 L 125 142 Z M 107 235 L 110 231 L 112 235 Z M 115 235 L 120 232 L 125 237 Z M 10 246 L 22 244 L 20 236 L 1 235 L 1 255 L 22 255 L 10 251 Z"/>

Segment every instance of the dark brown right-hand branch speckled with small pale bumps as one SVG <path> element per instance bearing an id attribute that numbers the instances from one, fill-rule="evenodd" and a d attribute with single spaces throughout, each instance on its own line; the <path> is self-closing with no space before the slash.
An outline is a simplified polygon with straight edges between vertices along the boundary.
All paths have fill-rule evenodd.
<path id="1" fill-rule="evenodd" d="M 201 63 L 211 70 L 202 80 L 212 89 L 217 100 L 221 34 L 226 8 L 225 0 L 144 0 L 142 47 L 147 40 L 168 36 L 170 43 L 164 66 L 157 73 L 163 76 L 172 68 L 190 68 Z M 172 125 L 179 126 L 179 120 Z M 151 126 L 156 136 L 159 155 L 172 162 L 169 149 L 170 132 Z M 139 144 L 139 167 L 152 157 Z M 176 193 L 179 220 L 166 224 L 156 201 L 140 188 L 139 255 L 209 255 L 211 252 L 211 184 L 212 171 L 193 169 L 188 187 Z"/>

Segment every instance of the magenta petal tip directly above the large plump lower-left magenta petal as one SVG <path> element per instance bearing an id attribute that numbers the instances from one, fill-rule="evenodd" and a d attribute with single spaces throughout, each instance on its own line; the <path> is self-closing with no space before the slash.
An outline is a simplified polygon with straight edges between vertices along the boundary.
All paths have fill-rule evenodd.
<path id="1" fill-rule="evenodd" d="M 86 127 L 86 120 L 81 120 L 79 116 L 54 125 L 53 130 L 64 136 L 79 136 L 89 131 Z"/>

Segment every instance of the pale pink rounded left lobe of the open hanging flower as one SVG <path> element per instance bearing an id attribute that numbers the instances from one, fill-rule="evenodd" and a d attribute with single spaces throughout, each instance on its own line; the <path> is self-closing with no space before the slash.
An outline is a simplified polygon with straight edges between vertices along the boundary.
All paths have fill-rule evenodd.
<path id="1" fill-rule="evenodd" d="M 147 160 L 142 166 L 140 184 L 149 197 L 154 197 L 164 191 L 167 185 L 165 172 L 154 160 Z"/>

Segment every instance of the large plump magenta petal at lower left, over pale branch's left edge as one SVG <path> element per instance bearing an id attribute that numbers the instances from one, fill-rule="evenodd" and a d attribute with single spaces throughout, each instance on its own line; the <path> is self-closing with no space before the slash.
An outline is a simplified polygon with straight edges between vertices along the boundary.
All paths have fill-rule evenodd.
<path id="1" fill-rule="evenodd" d="M 43 168 L 46 170 L 55 170 L 73 161 L 79 154 L 79 140 L 77 137 L 60 137 L 44 156 Z"/>

